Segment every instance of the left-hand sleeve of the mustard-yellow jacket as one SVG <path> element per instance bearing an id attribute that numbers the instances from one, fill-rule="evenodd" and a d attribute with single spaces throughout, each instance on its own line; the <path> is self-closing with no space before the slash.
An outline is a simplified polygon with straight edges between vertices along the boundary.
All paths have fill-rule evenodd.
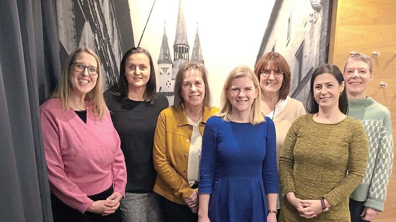
<path id="1" fill-rule="evenodd" d="M 176 123 L 174 123 L 176 124 Z M 176 196 L 187 198 L 194 189 L 180 176 L 169 162 L 166 147 L 166 116 L 161 112 L 158 116 L 154 133 L 154 144 L 152 150 L 154 168 L 158 175 L 172 188 Z"/>

